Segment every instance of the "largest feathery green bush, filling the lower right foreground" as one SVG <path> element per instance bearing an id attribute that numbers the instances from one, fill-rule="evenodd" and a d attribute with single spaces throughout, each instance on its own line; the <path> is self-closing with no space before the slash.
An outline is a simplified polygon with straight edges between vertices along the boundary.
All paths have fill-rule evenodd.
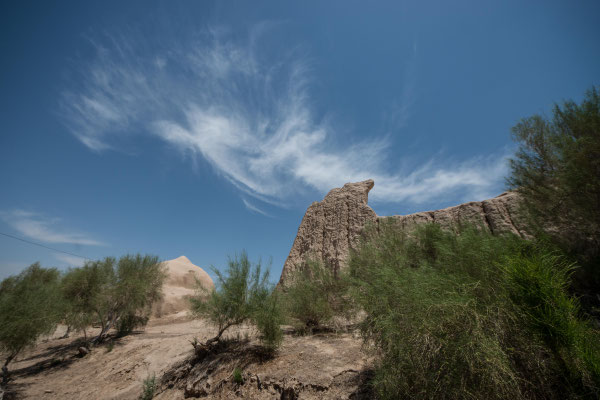
<path id="1" fill-rule="evenodd" d="M 351 256 L 351 293 L 380 356 L 379 397 L 596 396 L 597 334 L 569 305 L 568 270 L 548 257 L 474 228 L 408 235 L 383 224 L 368 234 Z M 532 295 L 532 284 L 552 289 Z"/>

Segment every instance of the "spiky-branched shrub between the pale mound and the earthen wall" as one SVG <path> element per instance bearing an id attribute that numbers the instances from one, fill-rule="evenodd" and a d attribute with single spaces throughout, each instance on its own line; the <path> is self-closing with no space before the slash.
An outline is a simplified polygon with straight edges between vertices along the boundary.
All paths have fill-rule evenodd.
<path id="1" fill-rule="evenodd" d="M 209 346 L 221 340 L 230 327 L 254 322 L 267 347 L 275 348 L 281 342 L 280 309 L 277 297 L 269 284 L 269 270 L 262 271 L 261 262 L 252 266 L 246 252 L 229 259 L 225 273 L 213 267 L 217 276 L 216 288 L 206 296 L 199 285 L 197 296 L 191 299 L 192 311 L 207 318 L 218 329 L 217 335 L 206 341 Z M 199 344 L 196 343 L 194 348 Z"/>

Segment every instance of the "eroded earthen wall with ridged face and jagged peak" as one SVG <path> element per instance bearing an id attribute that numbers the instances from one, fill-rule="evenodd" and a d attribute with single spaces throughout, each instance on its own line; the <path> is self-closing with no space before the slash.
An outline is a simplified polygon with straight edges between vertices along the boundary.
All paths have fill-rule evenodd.
<path id="1" fill-rule="evenodd" d="M 356 247 L 360 234 L 368 223 L 378 226 L 393 222 L 411 229 L 416 225 L 432 222 L 453 230 L 461 224 L 470 223 L 480 225 L 492 233 L 511 232 L 527 236 L 524 226 L 518 221 L 518 195 L 514 192 L 443 210 L 379 217 L 367 205 L 369 191 L 373 186 L 371 179 L 347 183 L 342 188 L 331 190 L 322 201 L 314 202 L 308 207 L 283 266 L 280 287 L 289 284 L 290 277 L 302 268 L 307 258 L 324 261 L 334 273 L 344 268 L 350 250 Z"/>

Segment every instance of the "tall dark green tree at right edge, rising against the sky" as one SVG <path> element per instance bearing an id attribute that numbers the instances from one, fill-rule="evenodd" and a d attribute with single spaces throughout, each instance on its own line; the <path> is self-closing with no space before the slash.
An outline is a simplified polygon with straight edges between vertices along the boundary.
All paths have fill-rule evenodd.
<path id="1" fill-rule="evenodd" d="M 598 305 L 600 290 L 600 93 L 556 104 L 512 128 L 519 148 L 507 181 L 537 235 L 548 235 L 582 265 L 578 291 Z"/>

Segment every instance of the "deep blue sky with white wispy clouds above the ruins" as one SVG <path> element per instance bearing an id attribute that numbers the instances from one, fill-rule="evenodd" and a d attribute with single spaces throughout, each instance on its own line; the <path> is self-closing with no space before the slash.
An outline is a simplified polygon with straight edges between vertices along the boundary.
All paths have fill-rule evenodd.
<path id="1" fill-rule="evenodd" d="M 3 2 L 0 232 L 90 259 L 246 249 L 304 211 L 500 194 L 510 127 L 600 84 L 596 1 Z M 0 236 L 0 278 L 82 263 Z"/>

